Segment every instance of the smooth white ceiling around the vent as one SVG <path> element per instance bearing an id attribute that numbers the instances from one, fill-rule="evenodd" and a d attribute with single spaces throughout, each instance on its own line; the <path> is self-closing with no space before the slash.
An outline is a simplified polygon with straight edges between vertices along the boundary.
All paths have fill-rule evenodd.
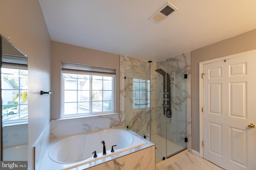
<path id="1" fill-rule="evenodd" d="M 167 0 L 39 0 L 50 37 L 162 61 L 256 28 L 256 0 L 169 0 L 179 10 L 149 18 Z"/>

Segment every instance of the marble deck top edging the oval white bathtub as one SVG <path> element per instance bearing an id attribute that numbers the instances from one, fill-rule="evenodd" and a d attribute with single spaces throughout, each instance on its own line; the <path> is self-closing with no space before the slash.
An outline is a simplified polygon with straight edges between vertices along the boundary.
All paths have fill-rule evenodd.
<path id="1" fill-rule="evenodd" d="M 112 161 L 116 158 L 119 158 L 119 157 L 126 157 L 126 155 L 129 155 L 129 154 L 133 154 L 134 152 L 136 151 L 139 151 L 139 150 L 144 150 L 144 149 L 148 149 L 148 147 L 152 147 L 154 148 L 154 144 L 151 143 L 150 141 L 142 138 L 140 135 L 134 133 L 133 131 L 129 130 L 129 129 L 126 129 L 126 128 L 123 128 L 123 127 L 115 127 L 115 128 L 120 128 L 120 129 L 124 129 L 128 132 L 130 132 L 132 135 L 138 137 L 139 139 L 141 139 L 142 141 L 144 141 L 146 144 L 145 145 L 142 145 L 142 146 L 139 146 L 139 147 L 135 147 L 135 148 L 132 148 L 132 149 L 129 149 L 129 150 L 125 150 L 124 152 L 120 152 L 120 153 L 117 153 L 117 154 L 114 154 L 114 155 L 111 155 L 111 156 L 106 156 L 102 159 L 99 159 L 99 160 L 96 160 L 96 161 L 92 161 L 92 162 L 89 162 L 87 164 L 84 164 L 82 161 L 81 162 L 77 162 L 77 163 L 74 163 L 74 164 L 59 164 L 59 163 L 56 163 L 54 161 L 52 161 L 48 155 L 46 155 L 44 157 L 44 162 L 43 162 L 43 166 L 41 167 L 41 170 L 44 170 L 44 169 L 54 169 L 54 170 L 62 170 L 62 169 L 85 169 L 85 168 L 90 168 L 90 167 L 93 167 L 93 166 L 96 166 L 98 164 L 102 164 L 104 162 L 108 162 L 108 161 Z M 58 138 L 53 138 L 51 139 L 49 145 L 48 145 L 48 149 L 47 149 L 47 153 L 49 152 L 49 150 L 51 149 L 51 147 L 57 143 L 58 141 L 64 139 L 65 137 L 58 137 Z M 93 156 L 93 155 L 92 155 Z"/>

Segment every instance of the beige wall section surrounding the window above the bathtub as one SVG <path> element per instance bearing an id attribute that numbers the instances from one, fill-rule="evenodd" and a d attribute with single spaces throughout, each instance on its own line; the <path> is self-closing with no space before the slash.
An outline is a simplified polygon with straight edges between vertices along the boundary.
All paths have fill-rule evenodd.
<path id="1" fill-rule="evenodd" d="M 52 41 L 51 119 L 60 118 L 61 61 L 116 68 L 116 112 L 120 111 L 119 55 Z"/>

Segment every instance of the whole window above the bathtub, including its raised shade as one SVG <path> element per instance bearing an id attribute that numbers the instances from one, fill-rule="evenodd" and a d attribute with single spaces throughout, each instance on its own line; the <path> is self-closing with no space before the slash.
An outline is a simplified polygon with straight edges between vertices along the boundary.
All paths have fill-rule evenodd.
<path id="1" fill-rule="evenodd" d="M 115 69 L 62 62 L 62 115 L 114 113 Z"/>

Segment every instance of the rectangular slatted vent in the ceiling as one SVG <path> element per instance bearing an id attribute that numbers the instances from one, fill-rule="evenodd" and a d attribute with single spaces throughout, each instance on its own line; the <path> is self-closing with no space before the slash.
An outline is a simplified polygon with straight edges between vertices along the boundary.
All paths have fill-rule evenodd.
<path id="1" fill-rule="evenodd" d="M 172 5 L 170 2 L 167 2 L 160 10 L 158 10 L 158 12 L 156 12 L 152 17 L 150 17 L 150 20 L 153 20 L 156 23 L 160 23 L 165 18 L 167 18 L 167 16 L 169 16 L 176 10 L 179 9 Z"/>

